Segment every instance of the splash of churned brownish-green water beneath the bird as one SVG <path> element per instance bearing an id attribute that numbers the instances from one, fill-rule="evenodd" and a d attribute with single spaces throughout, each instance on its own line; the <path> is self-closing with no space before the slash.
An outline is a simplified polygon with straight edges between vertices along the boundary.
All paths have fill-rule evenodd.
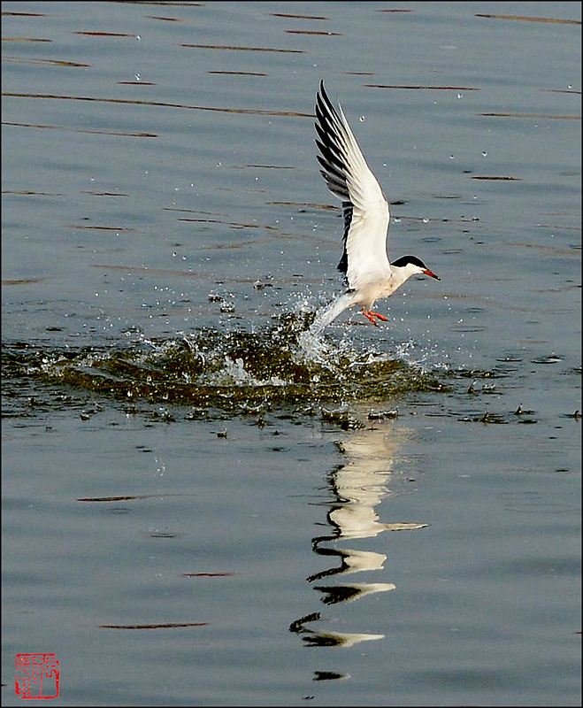
<path id="1" fill-rule="evenodd" d="M 138 337 L 124 348 L 42 350 L 6 347 L 6 372 L 94 391 L 124 401 L 183 404 L 238 412 L 258 405 L 306 407 L 387 401 L 411 391 L 444 390 L 434 373 L 407 361 L 412 344 L 394 356 L 311 329 L 303 304 L 257 332 L 214 328 L 181 337 Z M 6 359 L 7 356 L 7 359 Z"/>

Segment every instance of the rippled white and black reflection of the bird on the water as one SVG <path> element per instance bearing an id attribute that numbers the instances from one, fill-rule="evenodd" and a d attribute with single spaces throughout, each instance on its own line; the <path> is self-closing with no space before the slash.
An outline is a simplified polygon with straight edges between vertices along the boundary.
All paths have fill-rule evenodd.
<path id="1" fill-rule="evenodd" d="M 338 548 L 336 544 L 341 541 L 372 538 L 384 531 L 412 530 L 428 526 L 418 522 L 383 522 L 377 512 L 377 507 L 383 499 L 399 494 L 395 489 L 389 489 L 388 484 L 395 466 L 395 453 L 406 435 L 402 428 L 395 428 L 393 420 L 375 420 L 373 426 L 369 424 L 365 429 L 352 433 L 339 443 L 348 462 L 334 470 L 329 477 L 333 500 L 326 518 L 330 534 L 312 539 L 314 552 L 318 556 L 334 557 L 337 565 L 312 574 L 307 579 L 309 582 L 383 569 L 387 560 L 384 553 Z M 392 582 L 318 583 L 312 587 L 322 593 L 320 600 L 328 606 L 396 588 Z M 311 647 L 350 647 L 361 642 L 383 639 L 385 636 L 321 631 L 306 626 L 320 620 L 319 612 L 311 612 L 292 622 L 289 629 L 301 635 L 303 643 Z M 345 674 L 337 675 L 345 677 Z"/>

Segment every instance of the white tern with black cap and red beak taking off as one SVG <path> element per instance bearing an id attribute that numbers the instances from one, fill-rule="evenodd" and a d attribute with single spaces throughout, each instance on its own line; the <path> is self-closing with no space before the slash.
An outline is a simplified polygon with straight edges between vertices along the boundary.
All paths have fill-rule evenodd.
<path id="1" fill-rule="evenodd" d="M 352 305 L 359 305 L 364 317 L 373 325 L 377 319 L 387 321 L 372 305 L 381 297 L 392 295 L 411 275 L 432 273 L 416 256 L 402 256 L 393 263 L 387 258 L 387 229 L 390 215 L 387 199 L 379 182 L 366 164 L 349 122 L 326 95 L 324 81 L 316 103 L 316 144 L 321 155 L 318 162 L 328 189 L 341 199 L 344 212 L 344 251 L 338 270 L 344 273 L 349 289 L 318 312 L 311 325 L 317 333 Z"/>

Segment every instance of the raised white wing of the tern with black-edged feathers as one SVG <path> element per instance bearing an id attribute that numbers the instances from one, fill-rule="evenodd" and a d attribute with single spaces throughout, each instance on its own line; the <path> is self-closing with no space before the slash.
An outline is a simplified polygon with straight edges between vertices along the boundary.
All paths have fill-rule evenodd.
<path id="1" fill-rule="evenodd" d="M 344 252 L 338 264 L 350 289 L 387 277 L 387 199 L 366 164 L 341 107 L 339 112 L 320 81 L 316 103 L 318 162 L 328 189 L 341 199 Z"/>

